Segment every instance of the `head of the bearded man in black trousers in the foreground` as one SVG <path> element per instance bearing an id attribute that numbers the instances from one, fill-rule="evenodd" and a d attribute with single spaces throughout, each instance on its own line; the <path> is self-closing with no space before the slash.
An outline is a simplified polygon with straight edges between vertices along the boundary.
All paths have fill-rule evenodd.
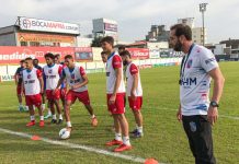
<path id="1" fill-rule="evenodd" d="M 182 51 L 189 42 L 192 42 L 192 30 L 189 25 L 175 24 L 170 27 L 170 46 L 175 51 Z"/>

